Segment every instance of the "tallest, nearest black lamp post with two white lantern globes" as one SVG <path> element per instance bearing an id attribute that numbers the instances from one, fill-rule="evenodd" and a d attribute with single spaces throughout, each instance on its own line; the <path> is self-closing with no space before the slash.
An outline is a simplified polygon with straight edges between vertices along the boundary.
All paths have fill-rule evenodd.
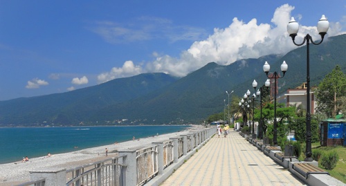
<path id="1" fill-rule="evenodd" d="M 314 45 L 319 45 L 322 43 L 325 35 L 327 34 L 329 28 L 329 21 L 325 18 L 325 15 L 322 15 L 320 21 L 317 23 L 318 34 L 321 36 L 321 40 L 319 42 L 314 42 L 309 34 L 304 37 L 304 40 L 301 44 L 296 44 L 294 39 L 297 36 L 299 25 L 294 18 L 291 18 L 289 24 L 287 25 L 287 32 L 289 32 L 289 36 L 292 38 L 293 44 L 296 46 L 302 46 L 305 41 L 307 41 L 307 138 L 306 138 L 306 151 L 305 151 L 305 161 L 313 161 L 312 151 L 311 151 L 311 114 L 310 114 L 310 59 L 309 59 L 309 44 L 310 41 Z"/>

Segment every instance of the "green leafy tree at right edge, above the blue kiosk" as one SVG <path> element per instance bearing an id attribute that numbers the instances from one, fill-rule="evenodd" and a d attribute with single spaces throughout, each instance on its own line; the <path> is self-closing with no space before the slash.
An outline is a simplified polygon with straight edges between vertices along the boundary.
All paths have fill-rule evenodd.
<path id="1" fill-rule="evenodd" d="M 318 85 L 317 111 L 325 113 L 329 118 L 334 117 L 340 111 L 345 111 L 345 95 L 346 75 L 341 71 L 340 66 L 336 66 Z"/>

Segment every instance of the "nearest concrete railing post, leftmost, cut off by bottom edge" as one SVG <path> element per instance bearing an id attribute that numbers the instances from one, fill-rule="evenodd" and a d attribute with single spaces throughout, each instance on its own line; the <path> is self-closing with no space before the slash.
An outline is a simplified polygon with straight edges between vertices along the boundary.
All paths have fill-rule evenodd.
<path id="1" fill-rule="evenodd" d="M 45 186 L 66 185 L 66 169 L 44 169 L 29 171 L 31 180 L 46 179 Z"/>

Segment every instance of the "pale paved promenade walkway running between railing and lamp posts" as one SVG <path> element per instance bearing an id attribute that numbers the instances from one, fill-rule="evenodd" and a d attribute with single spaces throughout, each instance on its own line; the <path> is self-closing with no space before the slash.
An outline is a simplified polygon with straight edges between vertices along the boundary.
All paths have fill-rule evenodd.
<path id="1" fill-rule="evenodd" d="M 215 135 L 161 185 L 306 185 L 235 131 Z"/>

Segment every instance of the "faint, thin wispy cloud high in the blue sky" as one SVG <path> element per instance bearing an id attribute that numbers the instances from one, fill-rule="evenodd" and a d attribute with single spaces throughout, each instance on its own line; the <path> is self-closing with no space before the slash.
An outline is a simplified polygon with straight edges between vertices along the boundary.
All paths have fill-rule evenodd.
<path id="1" fill-rule="evenodd" d="M 111 44 L 145 41 L 149 39 L 170 39 L 195 41 L 206 36 L 206 30 L 191 26 L 174 26 L 169 19 L 158 17 L 139 17 L 128 20 L 126 24 L 113 21 L 98 21 L 90 28 Z"/>

